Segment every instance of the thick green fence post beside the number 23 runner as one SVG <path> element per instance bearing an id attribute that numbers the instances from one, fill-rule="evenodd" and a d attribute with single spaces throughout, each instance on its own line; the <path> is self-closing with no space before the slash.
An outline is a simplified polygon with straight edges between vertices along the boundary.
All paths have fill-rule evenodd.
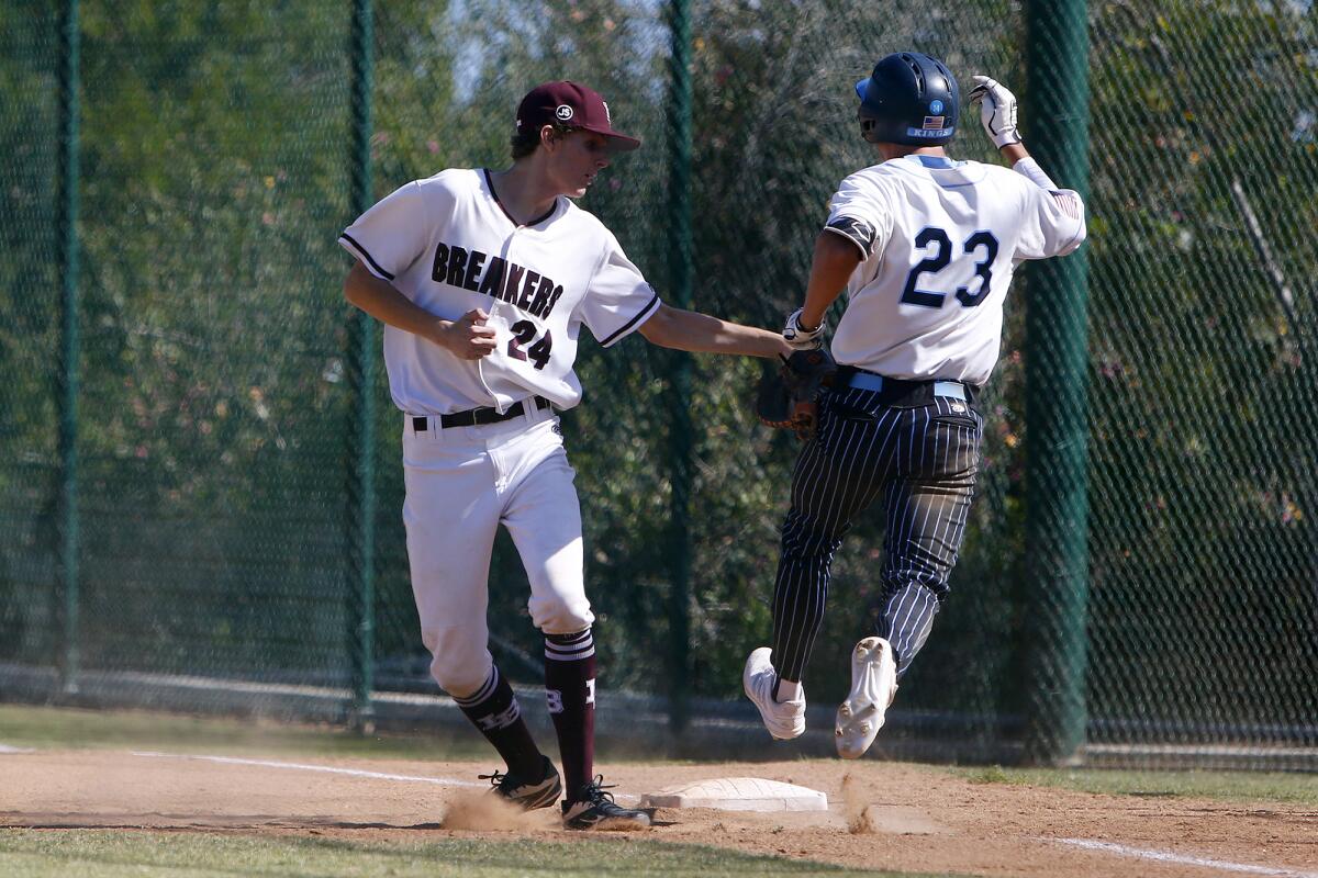
<path id="1" fill-rule="evenodd" d="M 1085 0 L 1029 0 L 1021 116 L 1058 186 L 1089 188 Z M 1085 744 L 1089 484 L 1086 250 L 1031 265 L 1025 333 L 1025 760 L 1062 763 Z"/>

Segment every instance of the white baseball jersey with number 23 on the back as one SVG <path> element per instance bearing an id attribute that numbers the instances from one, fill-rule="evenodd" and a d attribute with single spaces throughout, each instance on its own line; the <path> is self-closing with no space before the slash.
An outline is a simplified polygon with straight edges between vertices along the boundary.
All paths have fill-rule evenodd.
<path id="1" fill-rule="evenodd" d="M 829 203 L 828 230 L 861 249 L 833 334 L 840 363 L 908 379 L 983 384 L 998 362 L 1002 307 L 1024 259 L 1085 240 L 1085 205 L 1006 167 L 905 155 L 857 171 Z"/>

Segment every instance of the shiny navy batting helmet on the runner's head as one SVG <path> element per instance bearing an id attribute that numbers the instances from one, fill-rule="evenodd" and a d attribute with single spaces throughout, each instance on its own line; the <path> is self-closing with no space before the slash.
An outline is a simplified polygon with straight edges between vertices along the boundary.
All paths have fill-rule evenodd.
<path id="1" fill-rule="evenodd" d="M 957 132 L 961 88 L 941 61 L 899 51 L 855 83 L 861 134 L 871 143 L 940 146 Z"/>

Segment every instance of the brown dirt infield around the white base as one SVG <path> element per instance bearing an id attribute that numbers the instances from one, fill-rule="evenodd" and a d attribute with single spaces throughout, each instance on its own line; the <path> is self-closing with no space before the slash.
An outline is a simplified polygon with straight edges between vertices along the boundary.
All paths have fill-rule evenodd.
<path id="1" fill-rule="evenodd" d="M 484 783 L 476 781 L 488 765 L 258 762 L 109 750 L 3 753 L 0 825 L 380 841 L 472 833 L 580 837 L 563 832 L 548 811 L 509 815 L 492 808 Z M 800 783 L 822 790 L 830 802 L 828 812 L 813 813 L 659 810 L 648 833 L 658 841 L 966 875 L 1318 878 L 1318 813 L 1301 807 L 971 783 L 933 767 L 867 760 L 623 763 L 601 770 L 625 803 L 679 781 L 718 777 Z"/>

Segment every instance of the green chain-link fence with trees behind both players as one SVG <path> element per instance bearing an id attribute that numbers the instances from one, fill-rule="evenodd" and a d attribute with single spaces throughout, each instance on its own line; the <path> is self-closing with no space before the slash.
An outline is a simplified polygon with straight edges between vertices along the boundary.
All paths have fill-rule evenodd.
<path id="1" fill-rule="evenodd" d="M 875 161 L 851 83 L 915 47 L 1023 97 L 1090 237 L 1012 292 L 952 598 L 880 748 L 1007 758 L 1068 704 L 1091 762 L 1314 767 L 1315 36 L 1309 0 L 0 5 L 0 696 L 434 692 L 398 415 L 340 295 L 355 184 L 502 167 L 526 90 L 589 83 L 645 147 L 583 205 L 670 301 L 776 326 Z M 953 153 L 996 161 L 962 118 Z M 749 411 L 758 363 L 637 337 L 577 366 L 601 692 L 735 713 L 795 440 Z M 812 704 L 849 684 L 882 533 L 834 563 Z M 490 590 L 535 683 L 506 541 Z"/>

